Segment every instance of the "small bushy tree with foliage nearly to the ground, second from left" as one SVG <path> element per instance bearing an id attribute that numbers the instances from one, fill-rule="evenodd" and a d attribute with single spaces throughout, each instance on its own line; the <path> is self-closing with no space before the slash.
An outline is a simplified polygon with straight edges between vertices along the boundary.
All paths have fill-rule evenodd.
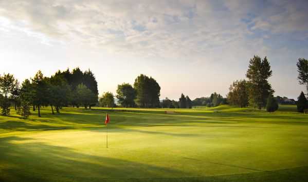
<path id="1" fill-rule="evenodd" d="M 20 100 L 21 104 L 18 107 L 18 113 L 23 116 L 24 119 L 28 118 L 30 115 L 30 104 L 33 99 L 33 88 L 29 79 L 25 79 L 22 83 L 22 88 L 20 90 Z"/>

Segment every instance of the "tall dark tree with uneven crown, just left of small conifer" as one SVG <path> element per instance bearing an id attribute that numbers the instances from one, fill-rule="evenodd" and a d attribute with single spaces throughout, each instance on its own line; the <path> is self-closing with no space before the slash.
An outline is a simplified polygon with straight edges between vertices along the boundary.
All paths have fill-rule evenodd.
<path id="1" fill-rule="evenodd" d="M 267 79 L 272 75 L 267 58 L 261 60 L 259 56 L 253 56 L 249 61 L 246 77 L 249 79 L 249 103 L 261 109 L 266 105 L 266 99 L 274 93 Z"/>

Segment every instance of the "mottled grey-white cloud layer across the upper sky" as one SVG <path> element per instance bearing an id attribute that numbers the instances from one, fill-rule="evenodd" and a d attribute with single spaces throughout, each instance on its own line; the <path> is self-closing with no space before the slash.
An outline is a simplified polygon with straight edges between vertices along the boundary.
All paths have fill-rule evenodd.
<path id="1" fill-rule="evenodd" d="M 270 34 L 308 33 L 305 1 L 0 1 L 0 16 L 67 44 L 143 57 L 218 58 L 266 47 Z M 245 20 L 245 21 L 243 21 Z M 0 30 L 7 25 L 0 26 Z M 266 31 L 251 39 L 256 31 Z M 250 36 L 250 38 L 249 38 Z"/>

